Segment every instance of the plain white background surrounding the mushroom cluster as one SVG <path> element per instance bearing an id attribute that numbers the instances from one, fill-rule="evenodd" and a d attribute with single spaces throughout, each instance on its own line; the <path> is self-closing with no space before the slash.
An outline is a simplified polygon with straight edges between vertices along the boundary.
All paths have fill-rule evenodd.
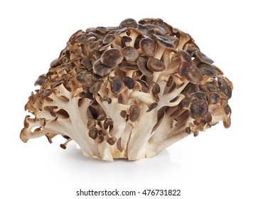
<path id="1" fill-rule="evenodd" d="M 167 188 L 180 189 L 177 198 L 256 198 L 252 2 L 1 1 L 0 198 L 85 198 L 75 195 L 80 188 Z M 19 133 L 33 82 L 47 72 L 68 38 L 79 29 L 146 17 L 162 18 L 190 33 L 233 82 L 230 129 L 218 124 L 196 138 L 178 141 L 155 158 L 132 162 L 86 158 L 74 143 L 64 151 L 61 138 L 53 144 L 45 137 L 24 144 Z"/>

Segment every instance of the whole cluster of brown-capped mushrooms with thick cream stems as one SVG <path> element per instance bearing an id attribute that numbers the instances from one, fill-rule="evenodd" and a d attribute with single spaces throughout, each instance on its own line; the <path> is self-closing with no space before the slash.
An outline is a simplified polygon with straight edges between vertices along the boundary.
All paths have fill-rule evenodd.
<path id="1" fill-rule="evenodd" d="M 156 156 L 223 121 L 233 85 L 193 38 L 160 18 L 87 28 L 70 37 L 35 82 L 21 140 L 60 134 L 112 161 Z"/>

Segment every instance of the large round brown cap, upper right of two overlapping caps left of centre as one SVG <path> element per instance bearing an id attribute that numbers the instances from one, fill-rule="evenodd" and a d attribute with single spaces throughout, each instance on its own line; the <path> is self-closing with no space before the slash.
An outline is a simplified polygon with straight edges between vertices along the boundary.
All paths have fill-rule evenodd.
<path id="1" fill-rule="evenodd" d="M 119 65 L 119 63 L 122 63 L 123 55 L 121 50 L 117 48 L 111 48 L 102 53 L 100 60 L 102 64 L 112 68 L 116 65 Z"/>

